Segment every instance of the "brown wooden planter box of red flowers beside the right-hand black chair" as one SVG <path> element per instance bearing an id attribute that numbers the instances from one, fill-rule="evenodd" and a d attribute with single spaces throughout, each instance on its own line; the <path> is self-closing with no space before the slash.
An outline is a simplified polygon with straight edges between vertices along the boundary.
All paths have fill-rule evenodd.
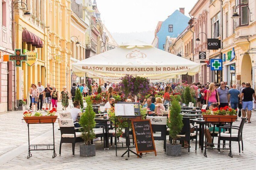
<path id="1" fill-rule="evenodd" d="M 237 115 L 203 115 L 206 122 L 235 122 Z"/>

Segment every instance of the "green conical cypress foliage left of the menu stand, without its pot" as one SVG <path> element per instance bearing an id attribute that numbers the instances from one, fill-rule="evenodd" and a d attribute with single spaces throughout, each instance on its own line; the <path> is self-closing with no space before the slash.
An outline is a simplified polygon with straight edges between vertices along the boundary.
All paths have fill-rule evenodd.
<path id="1" fill-rule="evenodd" d="M 95 138 L 94 130 L 95 128 L 95 112 L 92 109 L 91 101 L 87 102 L 87 107 L 85 112 L 82 114 L 79 124 L 82 127 L 82 136 L 81 138 L 84 140 L 85 145 L 91 144 L 91 141 Z"/>

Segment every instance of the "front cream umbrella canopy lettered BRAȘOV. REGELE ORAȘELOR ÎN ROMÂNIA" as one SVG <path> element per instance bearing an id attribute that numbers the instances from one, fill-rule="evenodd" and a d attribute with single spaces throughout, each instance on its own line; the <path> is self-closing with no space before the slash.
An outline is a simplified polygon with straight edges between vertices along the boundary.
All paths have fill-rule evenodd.
<path id="1" fill-rule="evenodd" d="M 114 82 L 120 81 L 126 74 L 162 82 L 181 74 L 193 76 L 200 71 L 200 64 L 136 40 L 74 63 L 72 71 L 77 76 L 87 73 L 88 77 Z"/>

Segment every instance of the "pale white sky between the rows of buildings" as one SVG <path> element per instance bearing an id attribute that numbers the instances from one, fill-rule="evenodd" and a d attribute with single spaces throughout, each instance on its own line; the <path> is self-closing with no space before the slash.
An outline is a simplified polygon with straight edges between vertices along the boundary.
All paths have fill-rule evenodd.
<path id="1" fill-rule="evenodd" d="M 93 0 L 92 0 L 93 2 Z M 96 0 L 101 20 L 118 44 L 131 39 L 152 43 L 158 21 L 164 21 L 176 9 L 185 15 L 197 0 Z"/>

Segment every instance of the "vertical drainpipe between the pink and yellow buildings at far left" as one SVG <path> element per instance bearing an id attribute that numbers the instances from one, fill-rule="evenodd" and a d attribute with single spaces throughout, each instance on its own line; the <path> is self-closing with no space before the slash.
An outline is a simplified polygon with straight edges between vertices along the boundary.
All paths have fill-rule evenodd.
<path id="1" fill-rule="evenodd" d="M 11 9 L 13 9 L 11 11 L 11 18 L 12 18 L 12 48 L 13 51 L 15 52 L 15 48 L 16 48 L 16 35 L 15 35 L 15 21 L 14 21 L 14 2 L 11 2 Z M 13 62 L 11 62 L 13 63 Z M 14 66 L 14 109 L 17 110 L 17 68 Z"/>

